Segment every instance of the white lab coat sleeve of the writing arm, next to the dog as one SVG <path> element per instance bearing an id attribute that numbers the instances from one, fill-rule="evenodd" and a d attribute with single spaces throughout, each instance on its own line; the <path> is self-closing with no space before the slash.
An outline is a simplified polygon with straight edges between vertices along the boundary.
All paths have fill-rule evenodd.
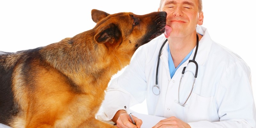
<path id="1" fill-rule="evenodd" d="M 146 50 L 147 51 L 147 50 Z M 102 103 L 104 115 L 111 120 L 118 110 L 141 103 L 146 98 L 145 50 L 137 50 L 124 72 L 113 79 Z M 102 117 L 101 117 L 102 118 Z"/>

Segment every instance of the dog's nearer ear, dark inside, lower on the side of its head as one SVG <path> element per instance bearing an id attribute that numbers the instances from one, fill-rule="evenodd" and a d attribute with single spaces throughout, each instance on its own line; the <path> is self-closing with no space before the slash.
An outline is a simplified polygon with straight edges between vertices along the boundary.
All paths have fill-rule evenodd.
<path id="1" fill-rule="evenodd" d="M 121 39 L 121 31 L 119 28 L 111 23 L 107 25 L 106 27 L 96 31 L 96 34 L 94 36 L 94 39 L 98 43 L 109 43 L 113 44 L 116 43 L 118 40 Z"/>

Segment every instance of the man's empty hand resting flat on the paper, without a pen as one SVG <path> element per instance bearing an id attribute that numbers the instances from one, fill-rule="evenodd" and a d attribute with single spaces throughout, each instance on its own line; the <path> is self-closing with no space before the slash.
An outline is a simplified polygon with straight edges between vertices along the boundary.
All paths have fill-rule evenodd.
<path id="1" fill-rule="evenodd" d="M 158 122 L 153 128 L 191 128 L 187 123 L 175 116 L 166 118 Z"/>

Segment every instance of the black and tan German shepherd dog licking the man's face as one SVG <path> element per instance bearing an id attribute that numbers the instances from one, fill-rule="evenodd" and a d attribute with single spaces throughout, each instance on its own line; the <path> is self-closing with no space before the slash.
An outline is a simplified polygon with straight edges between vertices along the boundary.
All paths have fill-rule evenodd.
<path id="1" fill-rule="evenodd" d="M 14 128 L 114 128 L 95 118 L 111 76 L 164 33 L 166 12 L 92 10 L 96 26 L 44 47 L 0 55 L 0 123 Z"/>

